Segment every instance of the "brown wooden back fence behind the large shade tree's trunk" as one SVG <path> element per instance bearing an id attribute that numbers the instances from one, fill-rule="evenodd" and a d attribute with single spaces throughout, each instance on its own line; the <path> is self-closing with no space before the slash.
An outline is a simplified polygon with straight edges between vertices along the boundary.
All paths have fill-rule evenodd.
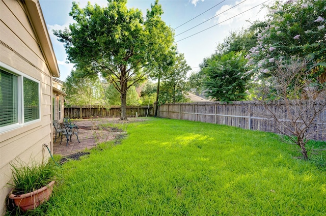
<path id="1" fill-rule="evenodd" d="M 91 117 L 118 117 L 120 116 L 121 107 L 111 106 L 104 108 L 100 106 L 78 106 L 78 107 L 65 107 L 64 116 L 69 118 L 91 118 Z M 136 116 L 152 116 L 152 106 L 127 106 L 127 117 Z"/>

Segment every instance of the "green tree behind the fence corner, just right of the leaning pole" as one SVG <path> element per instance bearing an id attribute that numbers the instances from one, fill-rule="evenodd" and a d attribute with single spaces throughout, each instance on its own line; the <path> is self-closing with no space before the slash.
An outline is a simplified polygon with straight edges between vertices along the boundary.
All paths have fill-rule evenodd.
<path id="1" fill-rule="evenodd" d="M 165 74 L 163 78 L 163 85 L 161 90 L 161 97 L 159 102 L 164 103 L 176 103 L 185 102 L 185 95 L 189 90 L 187 84 L 187 72 L 192 68 L 187 65 L 183 54 L 176 55 L 175 63 L 170 68 L 169 73 Z"/>

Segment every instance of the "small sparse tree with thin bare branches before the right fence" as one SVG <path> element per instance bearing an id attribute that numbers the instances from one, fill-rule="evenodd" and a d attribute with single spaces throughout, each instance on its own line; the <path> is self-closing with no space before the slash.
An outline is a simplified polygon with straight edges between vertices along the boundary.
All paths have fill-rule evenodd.
<path id="1" fill-rule="evenodd" d="M 258 100 L 264 105 L 263 117 L 275 122 L 287 141 L 300 147 L 308 159 L 306 144 L 316 133 L 326 130 L 326 83 L 311 74 L 310 59 L 292 56 L 275 61 L 257 89 Z M 326 138 L 326 137 L 325 137 Z"/>

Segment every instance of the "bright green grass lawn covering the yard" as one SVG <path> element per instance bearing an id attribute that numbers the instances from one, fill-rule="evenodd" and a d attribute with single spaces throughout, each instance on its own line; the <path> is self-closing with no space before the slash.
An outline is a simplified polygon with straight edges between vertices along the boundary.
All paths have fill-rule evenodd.
<path id="1" fill-rule="evenodd" d="M 46 215 L 326 214 L 325 169 L 277 135 L 148 119 L 64 164 Z"/>

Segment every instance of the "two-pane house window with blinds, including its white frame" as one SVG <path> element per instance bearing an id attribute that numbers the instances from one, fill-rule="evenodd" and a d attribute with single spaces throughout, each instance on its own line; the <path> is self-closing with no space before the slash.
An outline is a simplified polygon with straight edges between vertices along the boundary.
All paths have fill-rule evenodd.
<path id="1" fill-rule="evenodd" d="M 0 62 L 0 131 L 40 119 L 40 84 Z"/>

